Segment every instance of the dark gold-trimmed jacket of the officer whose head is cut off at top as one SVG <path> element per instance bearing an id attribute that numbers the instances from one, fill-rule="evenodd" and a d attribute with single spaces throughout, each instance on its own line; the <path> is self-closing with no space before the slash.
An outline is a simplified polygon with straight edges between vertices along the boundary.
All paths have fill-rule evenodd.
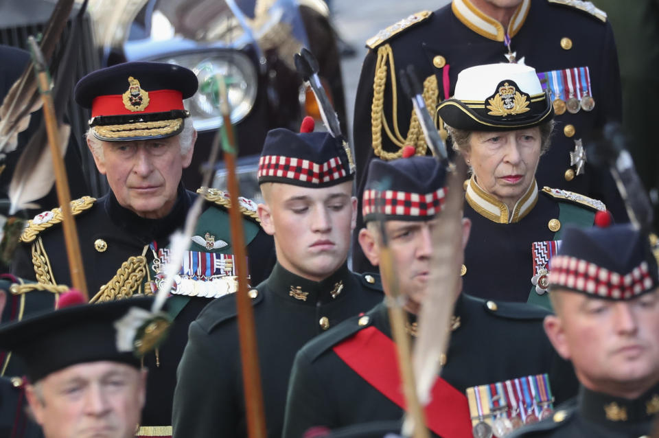
<path id="1" fill-rule="evenodd" d="M 467 0 L 460 3 L 463 1 Z M 571 114 L 566 111 L 555 117 L 557 126 L 551 148 L 541 157 L 537 169 L 538 185 L 603 200 L 616 221 L 624 222 L 627 214 L 608 170 L 586 164 L 585 174 L 575 176 L 571 181 L 566 181 L 565 177 L 566 170 L 575 170 L 575 166 L 570 166 L 569 156 L 569 152 L 575 149 L 575 140 L 584 139 L 608 120 L 621 119 L 620 74 L 611 26 L 602 21 L 599 14 L 595 16 L 561 4 L 567 1 L 533 0 L 528 3 L 525 18 L 524 14 L 513 17 L 513 21 L 520 20 L 511 28 L 511 50 L 516 52 L 517 59 L 523 56 L 525 63 L 538 73 L 589 67 L 592 97 L 596 102 L 590 112 L 581 110 Z M 399 157 L 405 144 L 418 146 L 419 153 L 427 151 L 418 125 L 413 130 L 409 128 L 413 108 L 402 91 L 398 78 L 400 69 L 414 65 L 419 80 L 428 78 L 424 97 L 428 108 L 434 108 L 437 102 L 453 95 L 458 73 L 463 69 L 507 62 L 502 29 L 502 34 L 497 36 L 488 34 L 468 19 L 465 24 L 454 14 L 452 5 L 416 16 L 417 19 L 397 23 L 397 28 L 391 26 L 383 30 L 367 43 L 369 52 L 362 66 L 353 123 L 360 205 L 368 163 L 373 157 L 393 157 L 382 152 L 376 154 L 374 148 L 378 143 L 381 143 L 382 151 L 397 153 Z M 564 38 L 569 38 L 569 42 Z M 395 107 L 392 75 L 397 82 Z M 375 88 L 382 95 L 374 98 L 376 78 L 380 82 Z M 382 117 L 382 123 L 378 122 Z M 395 132 L 400 132 L 400 139 L 397 139 L 400 144 L 390 139 L 385 124 L 393 137 L 397 137 Z M 361 207 L 358 211 L 361 213 Z M 361 223 L 360 216 L 358 224 Z M 358 246 L 354 249 L 360 253 Z M 354 257 L 354 267 L 360 272 L 362 266 L 368 268 L 369 264 L 360 253 L 359 257 Z"/>

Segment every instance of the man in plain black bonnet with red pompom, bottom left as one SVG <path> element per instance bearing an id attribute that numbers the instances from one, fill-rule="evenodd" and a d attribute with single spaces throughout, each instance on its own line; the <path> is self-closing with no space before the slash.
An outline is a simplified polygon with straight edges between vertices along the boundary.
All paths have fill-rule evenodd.
<path id="1" fill-rule="evenodd" d="M 4 325 L 0 345 L 26 363 L 25 393 L 46 438 L 135 437 L 146 399 L 146 370 L 117 349 L 115 322 L 152 299 L 69 306 Z"/>

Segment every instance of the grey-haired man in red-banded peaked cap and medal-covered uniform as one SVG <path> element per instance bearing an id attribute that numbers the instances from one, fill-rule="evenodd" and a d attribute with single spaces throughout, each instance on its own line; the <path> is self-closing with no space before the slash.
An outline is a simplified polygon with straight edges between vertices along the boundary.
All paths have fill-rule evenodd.
<path id="1" fill-rule="evenodd" d="M 197 89 L 194 73 L 178 65 L 127 62 L 90 73 L 76 86 L 76 101 L 91 108 L 86 139 L 110 192 L 71 203 L 91 302 L 151 294 L 163 281 L 170 235 L 183 228 L 197 194 L 181 183 L 196 131 L 183 100 Z M 150 370 L 139 436 L 172 435 L 176 367 L 187 327 L 213 298 L 237 288 L 229 231 L 229 198 L 210 189 L 169 301 L 174 326 L 167 341 L 144 358 Z M 242 198 L 252 284 L 275 262 L 273 240 L 261 229 L 256 205 Z M 70 284 L 59 209 L 28 224 L 14 263 L 19 277 Z"/>

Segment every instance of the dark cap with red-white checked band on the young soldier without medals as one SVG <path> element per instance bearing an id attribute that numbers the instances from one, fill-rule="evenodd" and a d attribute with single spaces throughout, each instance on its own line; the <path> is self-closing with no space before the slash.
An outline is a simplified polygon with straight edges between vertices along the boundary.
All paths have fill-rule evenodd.
<path id="1" fill-rule="evenodd" d="M 257 176 L 259 184 L 329 187 L 351 181 L 354 174 L 345 149 L 329 133 L 277 128 L 266 136 Z"/>

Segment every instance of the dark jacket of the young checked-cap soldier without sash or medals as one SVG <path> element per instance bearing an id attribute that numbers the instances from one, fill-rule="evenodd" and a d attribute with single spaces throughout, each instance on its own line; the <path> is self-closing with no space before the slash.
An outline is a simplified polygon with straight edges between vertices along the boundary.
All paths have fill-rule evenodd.
<path id="1" fill-rule="evenodd" d="M 343 284 L 343 287 L 341 287 Z M 293 358 L 311 338 L 382 300 L 375 275 L 344 264 L 316 282 L 275 265 L 251 292 L 268 437 L 280 438 Z M 190 325 L 174 393 L 174 437 L 246 437 L 235 296 L 213 301 Z"/>

